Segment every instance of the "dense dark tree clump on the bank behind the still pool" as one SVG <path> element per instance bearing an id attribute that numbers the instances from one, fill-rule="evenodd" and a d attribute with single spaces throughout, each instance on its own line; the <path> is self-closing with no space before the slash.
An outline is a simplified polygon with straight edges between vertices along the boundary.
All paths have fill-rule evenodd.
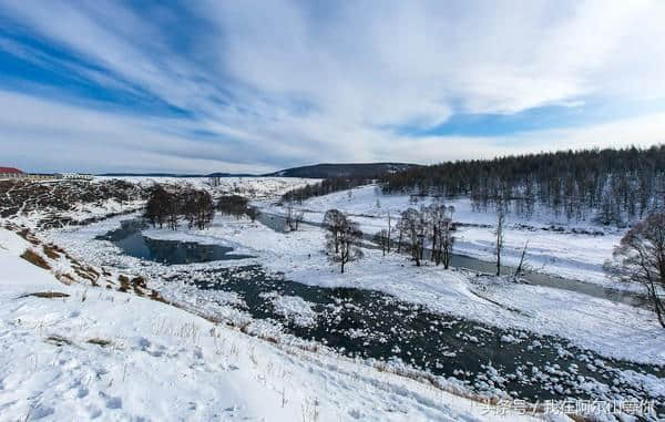
<path id="1" fill-rule="evenodd" d="M 215 216 L 213 197 L 206 191 L 180 188 L 167 191 L 161 185 L 151 189 L 145 206 L 145 217 L 153 226 L 162 228 L 164 224 L 173 230 L 180 220 L 187 222 L 187 227 L 204 229 Z"/>

